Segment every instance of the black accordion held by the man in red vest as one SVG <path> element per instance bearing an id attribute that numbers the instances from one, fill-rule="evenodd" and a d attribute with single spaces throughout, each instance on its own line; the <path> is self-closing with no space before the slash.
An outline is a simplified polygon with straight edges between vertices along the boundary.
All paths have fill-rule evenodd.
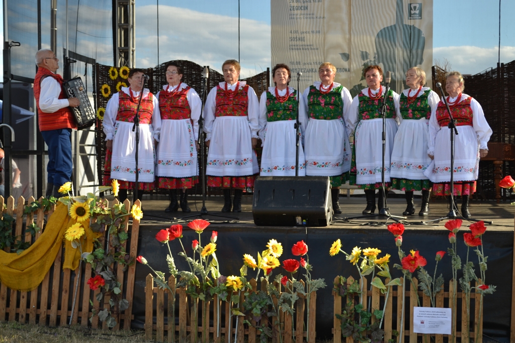
<path id="1" fill-rule="evenodd" d="M 80 105 L 77 107 L 70 107 L 77 123 L 77 130 L 89 128 L 95 123 L 95 111 L 91 107 L 90 99 L 86 92 L 86 88 L 80 78 L 68 80 L 63 83 L 64 93 L 66 97 L 77 98 Z"/>

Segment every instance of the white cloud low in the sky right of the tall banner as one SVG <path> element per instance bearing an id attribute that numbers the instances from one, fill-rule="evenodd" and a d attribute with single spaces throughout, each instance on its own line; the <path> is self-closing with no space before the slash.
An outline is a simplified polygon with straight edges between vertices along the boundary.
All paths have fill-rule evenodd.
<path id="1" fill-rule="evenodd" d="M 499 49 L 477 46 L 448 46 L 433 48 L 434 61 L 447 59 L 453 70 L 461 74 L 477 74 L 487 68 L 497 67 Z M 501 62 L 515 60 L 515 46 L 501 46 Z"/>

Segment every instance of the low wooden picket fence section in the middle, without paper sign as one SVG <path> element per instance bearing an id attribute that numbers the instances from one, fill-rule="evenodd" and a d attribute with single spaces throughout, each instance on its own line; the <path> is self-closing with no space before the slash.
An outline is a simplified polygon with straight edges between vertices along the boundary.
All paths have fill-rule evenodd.
<path id="1" fill-rule="evenodd" d="M 303 281 L 300 281 L 303 283 Z M 249 283 L 252 285 L 252 292 L 257 292 L 257 284 L 255 279 L 251 279 Z M 168 279 L 168 286 L 174 290 L 176 279 L 174 276 L 170 276 Z M 281 284 L 274 283 L 277 290 L 281 293 Z M 268 282 L 263 280 L 261 282 L 261 291 L 267 292 Z M 156 300 L 153 300 L 153 295 L 157 294 Z M 237 292 L 233 293 L 237 295 Z M 178 297 L 177 297 L 178 295 Z M 228 299 L 230 299 L 231 293 L 229 293 Z M 306 304 L 307 299 L 304 299 L 302 295 L 299 295 L 300 299 L 297 300 L 295 305 L 295 315 L 292 317 L 288 313 L 284 313 L 279 310 L 279 318 L 272 317 L 271 322 L 275 323 L 272 334 L 272 343 L 279 343 L 280 339 L 278 333 L 281 332 L 283 335 L 283 343 L 293 343 L 295 335 L 295 343 L 315 343 L 315 322 L 316 322 L 316 292 L 311 292 L 310 303 Z M 164 341 L 165 334 L 167 332 L 167 341 L 171 342 L 185 342 L 189 340 L 191 343 L 201 341 L 202 343 L 256 343 L 260 341 L 261 331 L 255 329 L 256 322 L 250 320 L 254 326 L 244 324 L 243 317 L 240 317 L 236 326 L 236 316 L 229 318 L 231 304 L 229 301 L 219 300 L 217 295 L 213 296 L 212 300 L 200 301 L 198 299 L 192 301 L 190 297 L 186 295 L 186 289 L 179 287 L 176 289 L 174 297 L 170 297 L 168 290 L 161 290 L 154 286 L 154 279 L 151 274 L 147 276 L 145 286 L 145 339 L 152 340 L 153 330 L 156 330 L 156 341 Z M 276 297 L 272 297 L 274 304 L 278 303 Z M 243 312 L 243 303 L 245 296 L 243 292 L 240 294 L 239 306 Z M 178 309 L 178 320 L 179 324 L 176 325 L 173 317 L 173 304 L 175 302 L 175 309 Z M 167 324 L 164 323 L 165 318 L 165 303 L 167 304 Z M 220 317 L 218 319 L 217 313 L 218 308 L 216 304 L 220 306 Z M 178 305 L 178 306 L 177 306 Z M 309 321 L 304 323 L 304 314 L 308 306 L 310 318 Z M 195 310 L 196 308 L 196 310 Z M 225 308 L 225 312 L 222 309 Z M 271 310 L 271 309 L 269 309 Z M 210 318 L 210 313 L 213 314 L 213 318 Z M 153 316 L 156 316 L 156 324 L 153 323 Z M 195 314 L 197 314 L 197 320 L 195 320 Z M 231 320 L 231 321 L 230 321 Z M 262 320 L 268 320 L 263 317 Z M 211 326 L 211 321 L 213 326 Z M 295 326 L 293 324 L 295 323 Z M 305 325 L 304 325 L 305 324 Z M 231 329 L 228 329 L 231 328 Z M 308 328 L 308 331 L 304 331 Z M 295 331 L 294 331 L 295 330 Z M 199 339 L 199 333 L 201 337 Z M 176 337 L 178 334 L 178 340 Z M 188 337 L 189 334 L 189 337 Z M 234 335 L 236 334 L 236 340 Z M 221 336 L 224 335 L 225 339 L 222 341 Z"/>

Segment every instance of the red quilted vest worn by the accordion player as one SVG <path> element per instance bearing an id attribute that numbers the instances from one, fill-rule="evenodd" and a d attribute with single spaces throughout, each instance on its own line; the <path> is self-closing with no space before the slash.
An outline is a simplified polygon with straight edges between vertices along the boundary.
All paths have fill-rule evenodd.
<path id="1" fill-rule="evenodd" d="M 34 78 L 34 96 L 36 98 L 36 106 L 38 107 L 39 131 L 77 129 L 77 123 L 75 122 L 75 118 L 72 114 L 72 110 L 70 110 L 70 107 L 63 107 L 62 109 L 57 110 L 54 113 L 44 113 L 39 108 L 41 81 L 43 81 L 45 77 L 53 77 L 59 83 L 59 85 L 61 86 L 61 93 L 59 94 L 59 99 L 66 99 L 66 97 L 64 96 L 64 91 L 62 89 L 62 77 L 60 75 L 52 73 L 52 71 L 46 68 L 38 68 L 38 73 Z"/>

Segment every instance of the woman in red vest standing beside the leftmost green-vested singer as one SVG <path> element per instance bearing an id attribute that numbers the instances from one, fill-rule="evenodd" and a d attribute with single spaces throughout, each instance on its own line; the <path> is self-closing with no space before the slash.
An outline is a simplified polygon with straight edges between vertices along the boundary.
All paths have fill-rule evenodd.
<path id="1" fill-rule="evenodd" d="M 259 172 L 254 148 L 258 143 L 259 101 L 254 89 L 238 81 L 241 67 L 236 60 L 222 64 L 224 82 L 211 89 L 204 106 L 207 134 L 208 186 L 224 189 L 222 212 L 242 211 L 245 187 L 253 187 Z M 234 206 L 231 202 L 234 188 Z"/>

